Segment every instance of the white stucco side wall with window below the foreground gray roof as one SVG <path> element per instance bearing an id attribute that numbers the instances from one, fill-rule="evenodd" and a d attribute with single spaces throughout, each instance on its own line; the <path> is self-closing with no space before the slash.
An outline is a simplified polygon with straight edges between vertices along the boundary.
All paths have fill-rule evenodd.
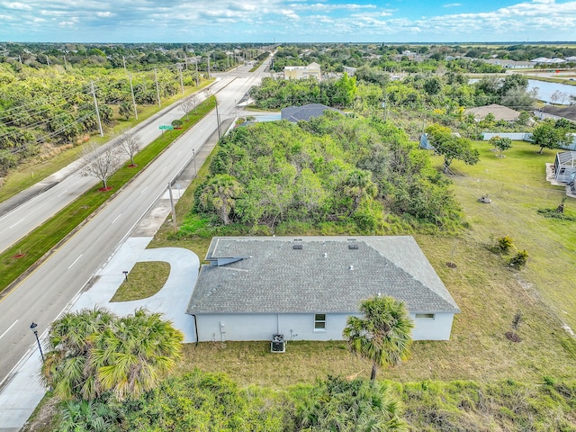
<path id="1" fill-rule="evenodd" d="M 319 313 L 322 313 L 319 311 Z M 226 314 L 196 315 L 198 338 L 201 342 L 227 340 L 271 340 L 279 333 L 285 340 L 342 340 L 348 314 L 327 314 L 326 329 L 314 329 L 313 313 L 293 314 Z M 434 320 L 416 320 L 414 340 L 447 340 L 450 338 L 452 313 L 436 313 Z"/>

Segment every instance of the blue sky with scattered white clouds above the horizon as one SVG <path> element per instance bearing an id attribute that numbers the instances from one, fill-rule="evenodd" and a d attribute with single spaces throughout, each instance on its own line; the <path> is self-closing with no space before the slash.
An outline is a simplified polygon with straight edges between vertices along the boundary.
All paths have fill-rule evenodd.
<path id="1" fill-rule="evenodd" d="M 0 40 L 576 40 L 576 0 L 0 0 Z"/>

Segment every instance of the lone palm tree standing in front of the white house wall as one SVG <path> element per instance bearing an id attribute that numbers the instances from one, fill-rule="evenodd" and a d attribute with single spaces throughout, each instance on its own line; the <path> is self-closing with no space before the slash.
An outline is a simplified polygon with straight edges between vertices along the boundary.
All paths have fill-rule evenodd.
<path id="1" fill-rule="evenodd" d="M 392 297 L 374 297 L 360 304 L 364 317 L 348 317 L 343 336 L 350 351 L 372 361 L 372 375 L 377 368 L 400 365 L 410 357 L 414 327 L 404 303 Z"/>

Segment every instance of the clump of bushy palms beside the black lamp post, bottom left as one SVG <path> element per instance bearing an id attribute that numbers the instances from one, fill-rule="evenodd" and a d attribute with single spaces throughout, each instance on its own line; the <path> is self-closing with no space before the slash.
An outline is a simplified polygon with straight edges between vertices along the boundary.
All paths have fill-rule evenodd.
<path id="1" fill-rule="evenodd" d="M 159 313 L 118 318 L 94 308 L 52 323 L 42 365 L 47 385 L 62 399 L 85 401 L 112 392 L 122 401 L 153 389 L 180 359 L 184 335 Z"/>

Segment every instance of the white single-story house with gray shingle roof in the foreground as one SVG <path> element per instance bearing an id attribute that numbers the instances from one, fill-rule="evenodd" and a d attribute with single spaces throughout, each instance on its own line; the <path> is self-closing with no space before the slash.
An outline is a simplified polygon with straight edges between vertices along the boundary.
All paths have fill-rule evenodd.
<path id="1" fill-rule="evenodd" d="M 411 236 L 215 237 L 186 313 L 199 341 L 341 340 L 374 296 L 404 302 L 415 340 L 450 338 L 457 304 Z"/>

